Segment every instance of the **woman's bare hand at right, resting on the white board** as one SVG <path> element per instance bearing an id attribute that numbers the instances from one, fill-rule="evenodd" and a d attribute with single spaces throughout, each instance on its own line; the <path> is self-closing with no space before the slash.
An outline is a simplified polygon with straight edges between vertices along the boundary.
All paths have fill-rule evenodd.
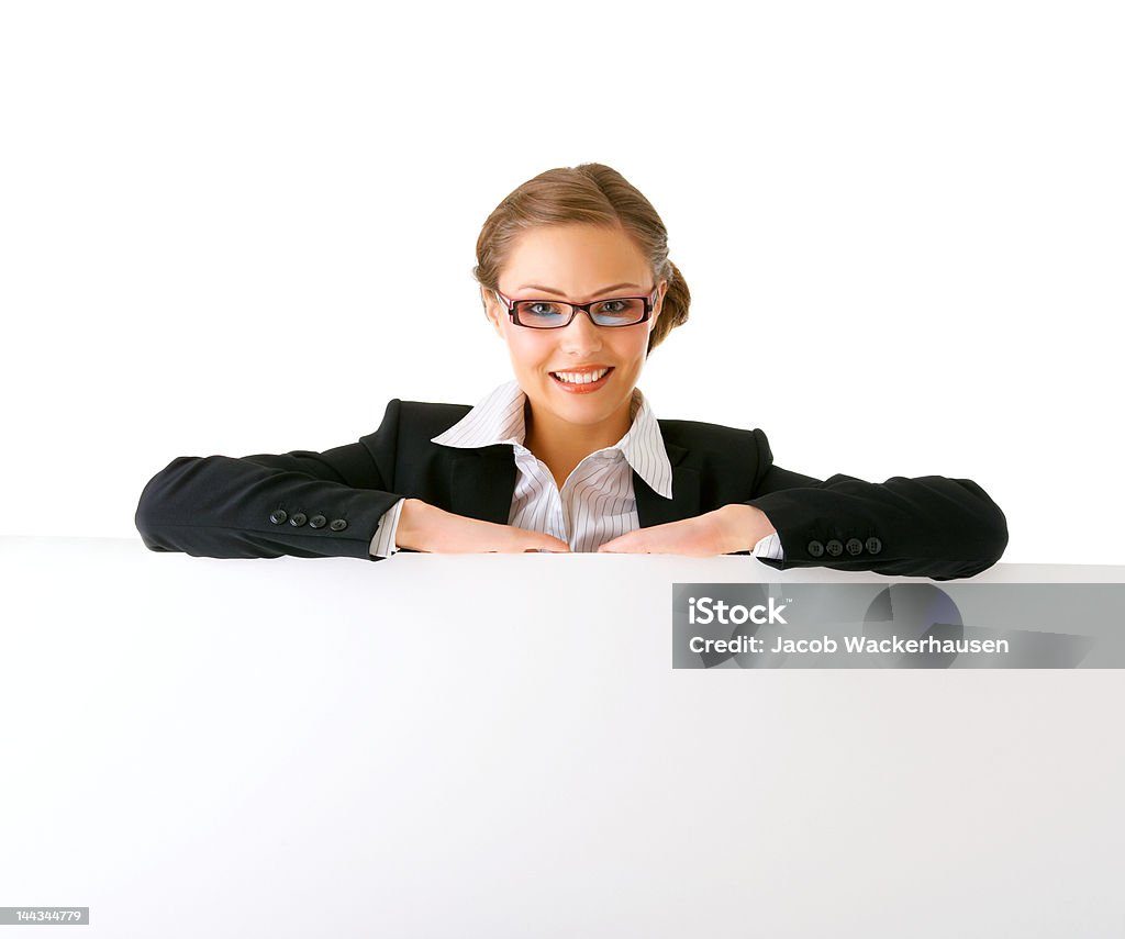
<path id="1" fill-rule="evenodd" d="M 709 558 L 750 551 L 776 530 L 766 514 L 753 505 L 724 505 L 694 518 L 637 529 L 606 541 L 598 552 L 637 554 L 688 554 Z"/>

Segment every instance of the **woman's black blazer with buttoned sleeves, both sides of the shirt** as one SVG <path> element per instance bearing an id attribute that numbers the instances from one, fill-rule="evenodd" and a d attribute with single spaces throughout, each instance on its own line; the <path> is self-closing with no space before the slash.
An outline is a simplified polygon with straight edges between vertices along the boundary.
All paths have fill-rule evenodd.
<path id="1" fill-rule="evenodd" d="M 387 405 L 375 433 L 323 453 L 179 457 L 145 486 L 136 526 L 153 551 L 210 558 L 362 558 L 379 517 L 399 498 L 506 524 L 515 491 L 511 445 L 431 443 L 468 405 Z M 730 503 L 760 508 L 777 530 L 786 570 L 830 567 L 950 580 L 996 563 L 1008 544 L 999 506 L 970 479 L 922 476 L 820 481 L 776 467 L 760 430 L 659 421 L 672 499 L 633 472 L 640 526 L 691 518 Z M 739 551 L 748 554 L 749 551 Z"/>

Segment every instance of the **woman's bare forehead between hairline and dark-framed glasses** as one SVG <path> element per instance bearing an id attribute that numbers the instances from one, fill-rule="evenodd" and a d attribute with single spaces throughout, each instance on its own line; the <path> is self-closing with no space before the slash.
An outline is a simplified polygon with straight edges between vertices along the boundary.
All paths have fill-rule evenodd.
<path id="1" fill-rule="evenodd" d="M 621 228 L 544 225 L 523 232 L 501 271 L 510 290 L 524 285 L 585 294 L 611 283 L 647 285 L 648 262 Z"/>

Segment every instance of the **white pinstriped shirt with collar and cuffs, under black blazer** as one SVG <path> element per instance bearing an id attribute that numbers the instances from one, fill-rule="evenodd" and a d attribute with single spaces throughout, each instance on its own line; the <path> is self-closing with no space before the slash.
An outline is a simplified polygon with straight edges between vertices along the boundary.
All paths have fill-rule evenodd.
<path id="1" fill-rule="evenodd" d="M 446 446 L 476 448 L 510 443 L 515 455 L 515 493 L 507 523 L 543 532 L 572 551 L 596 551 L 605 542 L 640 527 L 632 470 L 657 495 L 672 498 L 672 464 L 652 408 L 633 388 L 632 425 L 613 446 L 597 450 L 574 468 L 561 490 L 547 464 L 523 445 L 523 389 L 514 379 L 501 385 L 452 427 L 432 439 Z M 379 520 L 370 553 L 387 558 L 398 551 L 395 533 L 405 498 Z M 754 557 L 784 557 L 776 534 L 754 545 Z"/>

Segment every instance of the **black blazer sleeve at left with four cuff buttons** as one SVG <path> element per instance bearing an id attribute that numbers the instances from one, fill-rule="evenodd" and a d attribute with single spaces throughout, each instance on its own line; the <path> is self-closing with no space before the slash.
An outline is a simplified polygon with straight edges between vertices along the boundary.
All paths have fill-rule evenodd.
<path id="1" fill-rule="evenodd" d="M 205 558 L 361 558 L 390 491 L 399 406 L 371 435 L 323 452 L 178 457 L 145 486 L 135 524 L 152 551 Z"/>

